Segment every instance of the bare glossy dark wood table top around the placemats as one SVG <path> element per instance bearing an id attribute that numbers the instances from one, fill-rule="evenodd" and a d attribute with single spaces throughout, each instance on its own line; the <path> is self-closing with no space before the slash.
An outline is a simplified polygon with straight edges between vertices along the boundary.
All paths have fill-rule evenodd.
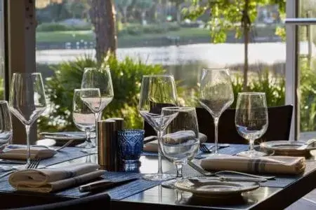
<path id="1" fill-rule="evenodd" d="M 316 156 L 316 151 L 313 151 L 312 153 Z M 183 193 L 179 190 L 171 190 L 163 188 L 162 186 L 156 186 L 136 195 L 127 197 L 124 200 L 114 200 L 112 202 L 112 209 L 268 209 L 271 207 L 273 209 L 284 209 L 311 190 L 315 189 L 315 156 L 312 156 L 307 163 L 312 169 L 307 170 L 304 176 L 285 188 L 260 187 L 249 193 L 242 193 L 241 197 L 228 198 L 225 200 L 200 200 L 192 197 L 191 193 Z M 96 156 L 91 155 L 89 159 L 93 162 L 96 160 Z M 53 165 L 52 167 L 67 166 L 74 162 L 86 162 L 86 160 L 87 157 L 78 158 L 77 160 Z M 140 162 L 140 173 L 146 174 L 157 172 L 156 157 L 142 156 Z M 164 172 L 175 168 L 175 166 L 167 160 L 163 160 L 162 165 Z M 34 200 L 34 202 L 39 203 L 39 197 L 37 195 L 31 197 L 29 197 L 29 194 L 27 193 L 24 195 L 27 202 Z M 11 197 L 6 193 L 2 194 L 0 192 L 1 200 L 6 199 L 6 197 L 11 200 L 14 199 L 12 195 L 10 196 Z M 19 194 L 15 199 L 19 199 L 20 202 L 22 202 L 23 197 L 21 196 L 22 195 Z M 41 199 L 49 200 L 49 202 L 54 201 L 54 198 L 50 197 L 48 199 L 45 195 L 41 197 Z"/>

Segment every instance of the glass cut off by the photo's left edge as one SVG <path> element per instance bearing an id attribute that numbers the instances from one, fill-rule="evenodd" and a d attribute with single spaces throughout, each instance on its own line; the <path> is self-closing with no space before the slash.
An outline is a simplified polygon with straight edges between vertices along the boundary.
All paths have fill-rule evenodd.
<path id="1" fill-rule="evenodd" d="M 8 102 L 0 101 L 0 150 L 12 140 L 12 121 Z"/>

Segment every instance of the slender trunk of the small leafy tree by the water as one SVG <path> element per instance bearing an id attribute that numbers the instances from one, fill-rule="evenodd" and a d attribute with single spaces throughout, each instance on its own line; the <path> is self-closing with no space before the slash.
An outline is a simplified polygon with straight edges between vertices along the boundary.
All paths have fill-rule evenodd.
<path id="1" fill-rule="evenodd" d="M 244 26 L 244 84 L 243 84 L 243 90 L 244 92 L 247 91 L 247 83 L 248 83 L 248 43 L 249 43 L 249 0 L 245 0 L 245 6 L 244 6 L 244 15 L 242 18 L 243 26 Z"/>

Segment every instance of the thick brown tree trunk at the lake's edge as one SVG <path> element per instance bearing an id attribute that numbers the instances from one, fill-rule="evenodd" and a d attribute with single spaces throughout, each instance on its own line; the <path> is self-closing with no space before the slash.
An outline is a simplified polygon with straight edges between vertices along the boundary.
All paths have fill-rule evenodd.
<path id="1" fill-rule="evenodd" d="M 117 30 L 113 0 L 90 0 L 90 18 L 96 34 L 96 59 L 102 63 L 104 57 L 117 50 Z"/>

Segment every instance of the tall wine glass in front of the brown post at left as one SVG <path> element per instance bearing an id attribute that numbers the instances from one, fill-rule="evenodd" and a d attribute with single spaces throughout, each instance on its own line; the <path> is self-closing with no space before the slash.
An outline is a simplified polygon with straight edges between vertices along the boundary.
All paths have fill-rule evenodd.
<path id="1" fill-rule="evenodd" d="M 46 97 L 41 73 L 13 73 L 8 104 L 13 115 L 25 125 L 27 165 L 29 165 L 31 156 L 29 129 L 46 109 Z"/>

